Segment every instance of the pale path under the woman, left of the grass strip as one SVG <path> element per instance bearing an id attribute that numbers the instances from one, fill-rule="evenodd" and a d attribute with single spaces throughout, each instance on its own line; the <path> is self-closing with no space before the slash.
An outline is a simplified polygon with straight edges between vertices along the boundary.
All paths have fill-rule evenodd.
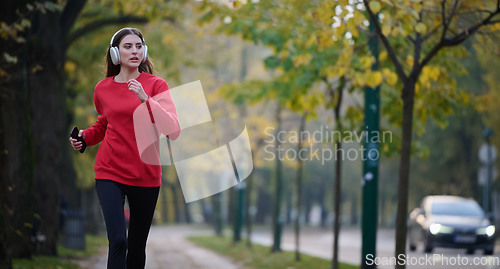
<path id="1" fill-rule="evenodd" d="M 212 234 L 208 228 L 153 226 L 146 246 L 147 269 L 237 269 L 229 258 L 189 242 L 190 235 Z M 107 248 L 88 260 L 76 261 L 82 269 L 105 269 Z"/>

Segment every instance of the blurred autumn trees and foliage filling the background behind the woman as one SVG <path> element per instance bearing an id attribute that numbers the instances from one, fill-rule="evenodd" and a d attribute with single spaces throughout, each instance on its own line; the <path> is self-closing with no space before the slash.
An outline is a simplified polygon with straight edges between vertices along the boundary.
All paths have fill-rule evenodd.
<path id="1" fill-rule="evenodd" d="M 338 1 L 337 1 L 338 2 Z M 377 1 L 373 1 L 377 2 Z M 387 1 L 380 1 L 387 2 Z M 467 5 L 478 1 L 467 2 Z M 67 2 L 36 2 L 32 9 L 60 12 Z M 381 86 L 383 131 L 392 132 L 390 141 L 382 141 L 379 180 L 379 222 L 393 226 L 397 201 L 397 177 L 402 124 L 402 82 L 381 50 L 379 70 L 371 72 L 373 55 L 367 49 L 365 15 L 360 9 L 337 10 L 335 1 L 110 1 L 89 0 L 78 14 L 68 39 L 61 80 L 67 94 L 67 126 L 88 128 L 97 119 L 93 104 L 95 84 L 105 76 L 105 55 L 112 34 L 122 27 L 139 28 L 148 45 L 148 55 L 157 75 L 171 88 L 201 80 L 214 118 L 231 116 L 247 125 L 254 154 L 254 172 L 249 180 L 255 191 L 250 197 L 254 221 L 271 221 L 273 175 L 276 165 L 266 151 L 273 145 L 271 130 L 278 128 L 276 107 L 282 107 L 281 130 L 287 133 L 282 147 L 294 149 L 292 132 L 299 131 L 306 115 L 305 130 L 335 130 L 333 101 L 343 91 L 340 110 L 343 131 L 363 130 L 363 90 Z M 375 6 L 376 8 L 376 6 Z M 29 10 L 29 8 L 26 8 Z M 382 31 L 390 35 L 396 51 L 411 63 L 405 46 L 405 33 L 412 23 L 397 9 L 388 9 L 381 18 Z M 24 12 L 24 11 L 23 11 Z M 3 40 L 24 44 L 20 34 L 31 27 L 29 12 L 18 13 L 14 22 L 1 21 Z M 24 14 L 24 15 L 23 15 Z M 26 15 L 28 14 L 28 15 Z M 333 17 L 353 18 L 331 27 Z M 127 23 L 103 23 L 126 17 Z M 407 16 L 409 17 L 409 16 Z M 430 19 L 430 18 L 429 18 Z M 431 21 L 425 21 L 431 25 Z M 362 26 L 364 25 L 364 26 Z M 497 24 L 498 25 L 498 24 Z M 94 27 L 92 31 L 82 31 Z M 406 28 L 408 29 L 406 29 Z M 419 32 L 429 30 L 418 25 Z M 16 30 L 17 29 L 17 30 Z M 500 42 L 498 26 L 488 34 L 476 34 L 463 46 L 440 53 L 422 70 L 418 80 L 414 109 L 409 206 L 416 206 L 428 194 L 453 194 L 480 200 L 477 152 L 483 143 L 485 127 L 494 130 L 493 144 L 500 146 Z M 347 34 L 349 32 L 349 34 Z M 335 42 L 338 41 L 338 42 Z M 23 59 L 11 51 L 2 51 L 0 78 L 11 75 L 10 67 Z M 408 65 L 410 66 L 410 65 Z M 33 73 L 41 70 L 32 66 Z M 339 89 L 340 77 L 346 86 Z M 64 121 L 65 119 L 60 119 Z M 333 141 L 304 141 L 304 147 L 331 148 Z M 359 149 L 357 143 L 344 143 L 345 149 Z M 80 206 L 98 208 L 94 199 L 93 166 L 98 147 L 86 154 L 72 153 Z M 308 156 L 310 157 L 310 156 Z M 499 161 L 497 160 L 497 166 Z M 329 226 L 333 219 L 333 161 L 306 160 L 303 169 L 302 220 L 310 225 Z M 283 161 L 284 214 L 292 221 L 296 160 Z M 359 225 L 361 208 L 362 164 L 356 160 L 342 163 L 343 223 Z M 496 183 L 500 191 L 500 184 Z M 94 195 L 95 196 L 95 195 Z M 224 194 L 225 220 L 231 221 L 231 192 Z M 158 202 L 158 222 L 211 222 L 211 198 L 186 205 L 173 170 L 165 168 L 164 188 Z M 313 211 L 320 218 L 312 218 Z M 101 220 L 102 221 L 102 220 Z"/>

